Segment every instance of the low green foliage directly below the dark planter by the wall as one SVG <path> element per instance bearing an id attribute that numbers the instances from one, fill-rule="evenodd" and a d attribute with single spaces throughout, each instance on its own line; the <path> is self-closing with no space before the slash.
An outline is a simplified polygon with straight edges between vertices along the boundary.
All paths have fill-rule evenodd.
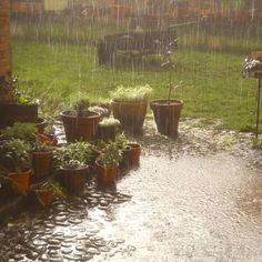
<path id="1" fill-rule="evenodd" d="M 17 122 L 0 131 L 3 139 L 21 139 L 27 141 L 36 140 L 37 127 L 33 123 Z"/>

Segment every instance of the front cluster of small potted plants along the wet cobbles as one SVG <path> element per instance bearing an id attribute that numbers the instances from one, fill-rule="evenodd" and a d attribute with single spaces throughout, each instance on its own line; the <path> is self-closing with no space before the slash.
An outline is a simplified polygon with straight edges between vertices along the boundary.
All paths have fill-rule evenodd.
<path id="1" fill-rule="evenodd" d="M 37 185 L 31 189 L 34 192 L 40 191 L 41 195 L 44 192 L 46 199 L 47 190 L 57 189 L 58 195 L 62 195 L 62 190 L 50 180 L 50 175 L 61 182 L 68 193 L 79 193 L 83 191 L 84 183 L 93 170 L 97 172 L 98 182 L 114 182 L 125 151 L 130 152 L 130 158 L 132 157 L 131 147 L 124 134 L 117 135 L 115 141 L 95 143 L 78 141 L 53 147 L 39 139 L 36 127 L 33 129 L 31 124 L 16 123 L 1 131 L 0 177 L 3 181 L 12 182 L 14 194 L 24 194 L 30 182 L 37 182 Z M 135 144 L 135 147 L 139 148 L 135 160 L 138 162 L 140 145 Z M 128 164 L 135 161 L 131 159 Z M 124 165 L 127 163 L 121 164 Z M 39 181 L 41 183 L 38 183 Z M 47 205 L 51 201 L 50 198 L 48 199 Z"/>

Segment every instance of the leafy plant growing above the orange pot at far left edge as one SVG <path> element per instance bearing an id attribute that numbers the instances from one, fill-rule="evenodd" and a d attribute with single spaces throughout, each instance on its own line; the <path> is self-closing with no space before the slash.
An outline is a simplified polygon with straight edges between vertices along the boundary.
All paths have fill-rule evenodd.
<path id="1" fill-rule="evenodd" d="M 0 145 L 0 163 L 11 172 L 22 172 L 31 167 L 30 143 L 20 139 L 2 141 Z"/>

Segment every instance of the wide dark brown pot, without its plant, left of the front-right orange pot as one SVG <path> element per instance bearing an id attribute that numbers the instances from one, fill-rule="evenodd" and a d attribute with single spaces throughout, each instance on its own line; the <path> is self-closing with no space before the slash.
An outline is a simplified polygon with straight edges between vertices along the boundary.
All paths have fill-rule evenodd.
<path id="1" fill-rule="evenodd" d="M 60 168 L 61 184 L 71 194 L 78 194 L 83 191 L 88 174 L 88 165 L 80 169 Z"/>

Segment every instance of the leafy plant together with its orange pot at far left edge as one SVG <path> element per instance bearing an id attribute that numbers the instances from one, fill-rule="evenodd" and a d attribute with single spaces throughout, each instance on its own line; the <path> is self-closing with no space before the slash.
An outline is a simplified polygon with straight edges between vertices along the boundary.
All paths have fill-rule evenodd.
<path id="1" fill-rule="evenodd" d="M 31 145 L 20 139 L 4 140 L 0 144 L 0 164 L 9 170 L 14 194 L 24 194 L 29 187 Z"/>

